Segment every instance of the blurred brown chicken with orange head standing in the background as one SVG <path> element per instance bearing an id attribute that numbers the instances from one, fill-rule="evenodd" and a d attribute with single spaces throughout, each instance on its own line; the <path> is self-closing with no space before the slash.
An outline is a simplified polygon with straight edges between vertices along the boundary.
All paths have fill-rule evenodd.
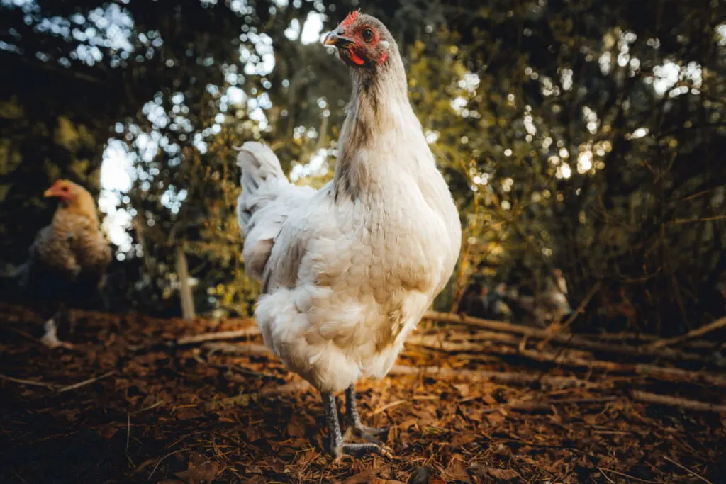
<path id="1" fill-rule="evenodd" d="M 67 306 L 100 295 L 111 249 L 100 230 L 96 202 L 83 186 L 58 180 L 44 197 L 57 197 L 60 205 L 50 225 L 38 231 L 28 261 L 20 267 L 20 294 L 49 318 L 41 342 L 49 348 L 71 348 L 58 339 L 56 319 Z"/>

